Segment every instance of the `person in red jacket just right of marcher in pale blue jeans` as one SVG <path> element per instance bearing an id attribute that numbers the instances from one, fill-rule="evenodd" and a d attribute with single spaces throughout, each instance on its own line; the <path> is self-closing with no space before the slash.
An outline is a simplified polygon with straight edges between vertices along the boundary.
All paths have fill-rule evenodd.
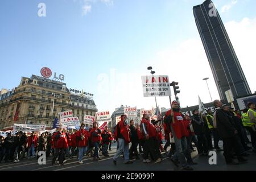
<path id="1" fill-rule="evenodd" d="M 101 142 L 101 129 L 98 128 L 98 123 L 93 123 L 93 128 L 90 130 L 90 138 L 94 147 L 94 156 L 93 160 L 101 160 L 100 155 L 98 154 L 98 146 Z"/>

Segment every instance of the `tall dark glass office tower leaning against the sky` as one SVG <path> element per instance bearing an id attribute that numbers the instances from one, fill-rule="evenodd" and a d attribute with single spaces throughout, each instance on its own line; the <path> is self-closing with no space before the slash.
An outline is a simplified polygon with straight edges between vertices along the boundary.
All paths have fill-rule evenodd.
<path id="1" fill-rule="evenodd" d="M 234 97 L 251 94 L 220 15 L 216 9 L 214 11 L 213 2 L 207 0 L 194 6 L 193 13 L 221 100 L 226 100 L 225 92 L 229 89 Z"/>

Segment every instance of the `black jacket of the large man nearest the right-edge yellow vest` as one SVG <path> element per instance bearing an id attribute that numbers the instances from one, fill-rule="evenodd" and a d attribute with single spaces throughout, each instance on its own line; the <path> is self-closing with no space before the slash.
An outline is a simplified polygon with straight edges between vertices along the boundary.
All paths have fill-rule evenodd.
<path id="1" fill-rule="evenodd" d="M 234 127 L 233 119 L 228 112 L 225 112 L 222 109 L 216 110 L 216 124 L 217 131 L 221 139 L 232 138 L 234 137 Z"/>

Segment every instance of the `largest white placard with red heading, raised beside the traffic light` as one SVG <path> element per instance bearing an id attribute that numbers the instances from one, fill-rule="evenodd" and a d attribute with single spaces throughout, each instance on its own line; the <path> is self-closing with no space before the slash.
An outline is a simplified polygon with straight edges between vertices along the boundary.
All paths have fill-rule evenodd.
<path id="1" fill-rule="evenodd" d="M 171 96 L 168 76 L 142 76 L 144 97 Z"/>

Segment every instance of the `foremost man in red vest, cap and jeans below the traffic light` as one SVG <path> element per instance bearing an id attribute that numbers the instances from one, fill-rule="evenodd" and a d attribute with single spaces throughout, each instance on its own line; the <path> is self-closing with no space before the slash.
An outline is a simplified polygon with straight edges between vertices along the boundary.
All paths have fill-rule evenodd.
<path id="1" fill-rule="evenodd" d="M 178 167 L 178 161 L 181 163 L 184 170 L 193 170 L 188 166 L 185 158 L 187 152 L 187 139 L 189 133 L 180 114 L 179 102 L 172 102 L 172 109 L 167 111 L 166 118 L 164 119 L 166 125 L 171 127 L 171 133 L 174 136 L 176 152 L 172 156 L 171 161 Z"/>

